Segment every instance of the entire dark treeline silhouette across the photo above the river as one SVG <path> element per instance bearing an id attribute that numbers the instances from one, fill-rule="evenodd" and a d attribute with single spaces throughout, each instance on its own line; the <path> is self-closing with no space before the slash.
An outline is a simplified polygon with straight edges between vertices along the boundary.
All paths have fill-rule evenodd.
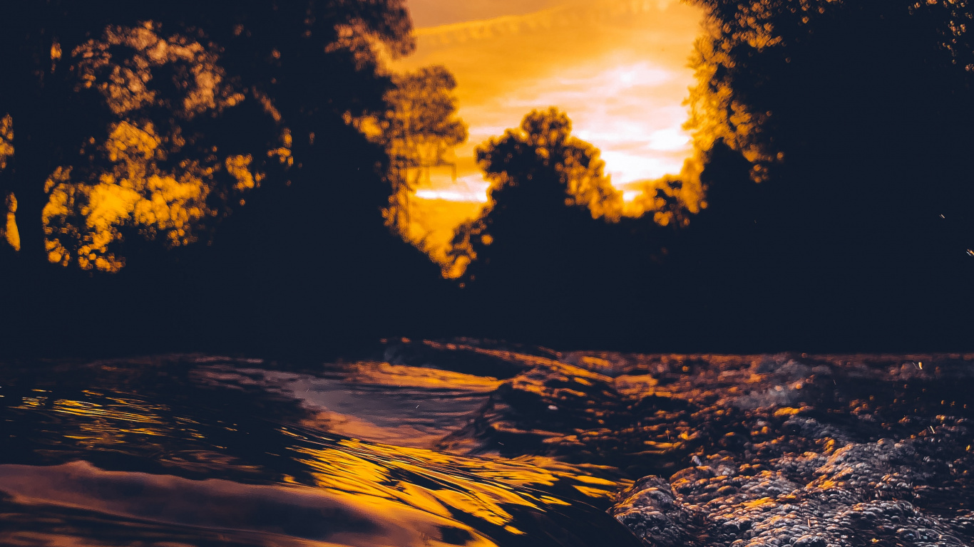
<path id="1" fill-rule="evenodd" d="M 409 50 L 401 2 L 58 0 L 10 10 L 0 19 L 0 116 L 13 120 L 16 153 L 0 190 L 17 197 L 20 250 L 0 245 L 3 350 L 323 356 L 384 336 L 677 351 L 967 348 L 974 50 L 952 21 L 969 20 L 970 8 L 696 3 L 712 34 L 701 39 L 706 78 L 692 103 L 720 97 L 700 126 L 710 137 L 707 207 L 687 227 L 593 218 L 589 201 L 566 193 L 578 178 L 522 154 L 537 148 L 531 131 L 502 136 L 480 158 L 495 205 L 458 234 L 455 254 L 475 255 L 463 287 L 385 226 L 388 143 L 350 123 L 388 111 L 393 82 L 372 40 Z M 109 100 L 125 66 L 78 87 L 71 55 L 104 41 L 109 26 L 150 20 L 158 36 L 216 55 L 222 72 L 210 73 L 226 92 L 208 86 L 223 93 L 212 106 L 172 114 L 197 103 L 185 86 L 161 84 L 199 83 L 190 75 L 206 73 L 193 72 L 203 53 L 158 66 L 146 53 L 160 87 L 131 110 Z M 116 42 L 106 51 L 138 47 Z M 230 105 L 234 92 L 244 98 Z M 89 188 L 115 172 L 107 151 L 122 142 L 112 128 L 123 120 L 159 142 L 185 141 L 171 158 L 145 160 L 147 173 L 188 184 L 185 162 L 212 165 L 199 175 L 214 189 L 198 207 L 206 213 L 118 226 L 104 250 L 84 215 L 45 234 L 45 181 L 77 165 L 72 176 L 88 178 L 68 182 L 87 186 L 64 188 L 90 213 Z M 558 130 L 571 143 L 563 158 L 578 167 L 571 176 L 606 190 L 597 151 Z M 253 188 L 230 167 L 240 164 Z M 167 203 L 180 214 L 191 205 Z M 87 245 L 90 265 L 111 254 L 125 267 L 51 264 L 53 237 L 82 241 L 64 248 L 76 258 Z"/>

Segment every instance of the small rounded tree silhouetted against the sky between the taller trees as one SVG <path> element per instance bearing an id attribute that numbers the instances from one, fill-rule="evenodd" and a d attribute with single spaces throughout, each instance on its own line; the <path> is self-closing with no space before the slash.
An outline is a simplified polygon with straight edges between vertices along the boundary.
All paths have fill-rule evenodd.
<path id="1" fill-rule="evenodd" d="M 571 131 L 564 113 L 536 110 L 477 147 L 490 203 L 457 229 L 450 250 L 468 265 L 467 281 L 485 271 L 496 279 L 518 271 L 543 277 L 571 262 L 590 238 L 585 231 L 598 232 L 593 219 L 618 222 L 621 193 L 603 174 L 598 149 Z"/>

